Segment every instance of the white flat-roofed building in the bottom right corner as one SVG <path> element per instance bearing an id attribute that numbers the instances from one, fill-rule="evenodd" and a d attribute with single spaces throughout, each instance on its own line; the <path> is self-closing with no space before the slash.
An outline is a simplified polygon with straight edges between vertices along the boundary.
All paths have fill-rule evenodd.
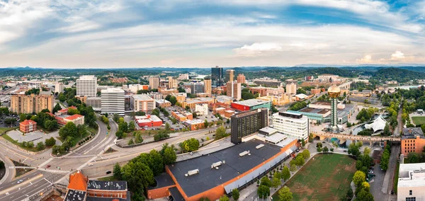
<path id="1" fill-rule="evenodd" d="M 397 200 L 425 200 L 425 163 L 401 163 Z"/>

